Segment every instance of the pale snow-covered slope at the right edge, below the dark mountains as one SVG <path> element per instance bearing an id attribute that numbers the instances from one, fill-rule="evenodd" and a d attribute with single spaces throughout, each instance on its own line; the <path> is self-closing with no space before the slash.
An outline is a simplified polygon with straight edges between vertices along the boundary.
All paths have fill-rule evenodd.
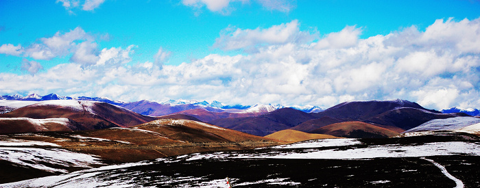
<path id="1" fill-rule="evenodd" d="M 420 132 L 420 131 L 453 131 L 457 129 L 462 129 L 466 126 L 472 124 L 477 124 L 480 122 L 480 118 L 473 117 L 455 117 L 455 118 L 446 118 L 446 119 L 435 119 L 420 124 L 413 129 L 409 129 L 404 133 L 411 132 Z"/>

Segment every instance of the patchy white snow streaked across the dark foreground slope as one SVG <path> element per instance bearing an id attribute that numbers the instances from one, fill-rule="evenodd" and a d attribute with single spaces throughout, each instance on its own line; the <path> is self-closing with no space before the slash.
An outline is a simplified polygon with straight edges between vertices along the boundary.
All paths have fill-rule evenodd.
<path id="1" fill-rule="evenodd" d="M 385 143 L 384 140 L 375 144 L 375 142 L 363 142 L 361 139 L 318 139 L 307 142 L 300 142 L 296 144 L 288 144 L 284 146 L 274 146 L 268 148 L 260 148 L 257 150 L 243 150 L 243 151 L 225 151 L 225 152 L 202 152 L 189 155 L 180 155 L 177 157 L 160 158 L 155 161 L 144 161 L 139 163 L 126 163 L 123 165 L 110 165 L 89 170 L 82 170 L 79 172 L 72 172 L 60 176 L 48 176 L 44 178 L 36 178 L 32 180 L 24 180 L 16 183 L 9 183 L 0 185 L 0 187 L 156 187 L 156 186 L 172 186 L 173 187 L 226 187 L 226 180 L 224 178 L 217 178 L 215 172 L 198 168 L 199 166 L 220 164 L 221 172 L 228 174 L 228 166 L 221 164 L 228 164 L 231 161 L 238 161 L 235 164 L 245 163 L 247 161 L 265 161 L 265 160 L 289 160 L 289 159 L 307 159 L 307 160 L 291 160 L 291 161 L 309 161 L 315 163 L 319 159 L 319 163 L 328 163 L 330 160 L 337 161 L 337 159 L 346 161 L 375 161 L 385 159 L 403 158 L 413 160 L 416 158 L 424 161 L 422 157 L 435 156 L 480 156 L 480 143 L 475 141 L 468 142 L 419 142 L 407 144 L 398 144 L 398 140 L 409 138 L 398 138 L 391 144 Z M 412 140 L 412 139 L 409 139 Z M 76 157 L 75 157 L 76 158 Z M 310 159 L 310 160 L 309 160 Z M 88 160 L 86 160 L 88 161 Z M 230 161 L 230 162 L 229 162 Z M 399 159 L 398 161 L 402 161 Z M 442 169 L 442 166 L 433 160 L 427 160 L 436 165 L 447 176 L 447 172 Z M 211 163 L 210 163 L 211 162 Z M 91 161 L 89 162 L 91 163 Z M 170 173 L 169 169 L 162 167 L 175 167 L 189 165 L 197 167 L 187 172 L 201 171 L 202 173 L 214 173 L 214 175 L 195 175 L 193 174 L 176 174 Z M 255 164 L 259 164 L 255 163 Z M 341 162 L 343 163 L 343 162 Z M 337 163 L 341 164 L 341 163 Z M 348 162 L 346 162 L 348 163 Z M 363 162 L 362 162 L 363 163 Z M 368 162 L 370 163 L 370 162 Z M 372 162 L 375 163 L 375 162 Z M 445 163 L 443 161 L 442 163 Z M 263 164 L 263 163 L 261 163 Z M 283 164 L 283 163 L 282 163 Z M 269 167 L 269 163 L 263 164 Z M 305 163 L 307 165 L 307 163 Z M 330 168 L 337 168 L 339 166 L 327 166 Z M 416 165 L 416 163 L 411 163 Z M 442 164 L 445 165 L 445 164 Z M 212 167 L 217 167 L 212 165 Z M 355 167 L 355 166 L 354 166 Z M 379 166 L 383 167 L 383 165 Z M 286 167 L 288 168 L 288 167 Z M 129 170 L 127 170 L 129 169 Z M 280 167 L 284 169 L 284 167 Z M 347 166 L 348 169 L 348 166 Z M 400 166 L 398 170 L 389 169 L 389 171 L 398 171 L 398 173 L 418 174 L 422 166 L 412 168 L 405 168 Z M 225 170 L 225 171 L 224 171 Z M 381 170 L 381 174 L 384 169 Z M 267 170 L 268 171 L 268 170 Z M 174 171 L 175 172 L 175 171 Z M 152 175 L 152 173 L 156 173 Z M 163 174 L 167 173 L 167 174 Z M 182 171 L 183 173 L 183 171 Z M 271 172 L 268 176 L 258 177 L 256 179 L 239 179 L 230 178 L 231 181 L 236 182 L 236 186 L 258 186 L 258 185 L 281 185 L 298 187 L 305 182 L 298 181 L 299 179 L 289 178 L 289 176 L 276 175 L 283 172 Z M 422 172 L 424 173 L 424 172 Z M 427 172 L 425 172 L 427 173 Z M 314 174 L 314 173 L 313 173 Z M 226 176 L 226 175 L 225 175 Z M 312 175 L 314 176 L 314 175 Z M 352 175 L 353 176 L 353 175 Z M 376 174 L 378 176 L 378 174 Z M 381 176 L 381 175 L 379 175 Z M 416 178 L 416 177 L 412 177 Z M 316 178 L 312 179 L 315 180 Z M 390 176 L 381 176 L 380 179 L 365 180 L 367 185 L 392 185 L 394 180 Z M 457 182 L 459 183 L 459 182 Z M 331 186 L 331 185 L 329 185 Z M 365 185 L 365 187 L 368 187 Z"/>

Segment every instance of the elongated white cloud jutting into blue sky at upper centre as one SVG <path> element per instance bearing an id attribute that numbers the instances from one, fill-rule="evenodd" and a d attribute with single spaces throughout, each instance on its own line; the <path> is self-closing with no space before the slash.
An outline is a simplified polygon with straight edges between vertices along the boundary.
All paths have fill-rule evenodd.
<path id="1" fill-rule="evenodd" d="M 251 51 L 261 44 L 287 44 L 302 43 L 313 40 L 315 33 L 300 31 L 299 23 L 293 20 L 290 23 L 274 25 L 267 29 L 239 29 L 228 27 L 221 31 L 220 37 L 215 40 L 213 46 L 227 51 L 245 49 Z"/>

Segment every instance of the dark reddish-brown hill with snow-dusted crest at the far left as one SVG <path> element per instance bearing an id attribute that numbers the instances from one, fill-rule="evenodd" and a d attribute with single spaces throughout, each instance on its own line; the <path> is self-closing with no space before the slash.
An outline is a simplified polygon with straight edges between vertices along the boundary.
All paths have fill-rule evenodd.
<path id="1" fill-rule="evenodd" d="M 24 131 L 75 131 L 105 129 L 109 127 L 130 127 L 152 120 L 128 109 L 93 101 L 46 100 L 34 105 L 0 114 L 0 133 L 21 133 Z M 13 118 L 8 120 L 8 118 Z M 20 120 L 18 118 L 29 118 Z M 37 122 L 56 118 L 62 121 L 49 122 L 42 126 Z M 47 121 L 48 122 L 48 121 Z M 16 126 L 19 125 L 19 126 Z M 67 129 L 68 128 L 68 129 Z"/>

